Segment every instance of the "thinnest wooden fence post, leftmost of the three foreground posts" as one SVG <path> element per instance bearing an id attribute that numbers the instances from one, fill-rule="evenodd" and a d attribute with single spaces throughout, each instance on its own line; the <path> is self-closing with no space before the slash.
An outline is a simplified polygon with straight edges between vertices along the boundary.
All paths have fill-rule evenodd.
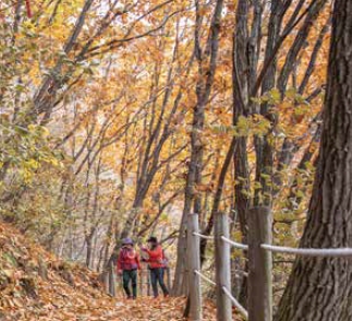
<path id="1" fill-rule="evenodd" d="M 190 320 L 202 320 L 202 292 L 201 278 L 194 271 L 201 271 L 199 237 L 193 235 L 198 233 L 198 215 L 190 214 L 187 217 L 187 269 L 190 288 Z"/>

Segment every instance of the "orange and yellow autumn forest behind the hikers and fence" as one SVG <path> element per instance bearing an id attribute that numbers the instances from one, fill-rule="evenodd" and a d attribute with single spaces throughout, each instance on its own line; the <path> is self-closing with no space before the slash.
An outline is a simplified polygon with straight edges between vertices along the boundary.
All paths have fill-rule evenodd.
<path id="1" fill-rule="evenodd" d="M 246 211 L 266 205 L 275 242 L 296 246 L 318 159 L 331 9 L 2 0 L 1 218 L 98 272 L 122 238 L 156 235 L 177 294 L 190 213 L 205 235 L 228 213 L 231 237 L 245 242 Z M 210 269 L 211 251 L 201 243 Z M 292 268 L 278 260 L 277 298 Z"/>

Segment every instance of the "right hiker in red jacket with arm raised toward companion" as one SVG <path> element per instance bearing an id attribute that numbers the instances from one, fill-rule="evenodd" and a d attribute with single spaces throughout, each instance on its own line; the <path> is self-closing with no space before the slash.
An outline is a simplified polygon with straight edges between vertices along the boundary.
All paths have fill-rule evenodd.
<path id="1" fill-rule="evenodd" d="M 148 254 L 148 259 L 144 260 L 149 263 L 150 280 L 154 297 L 158 297 L 158 283 L 162 289 L 163 296 L 168 297 L 169 292 L 163 283 L 163 270 L 166 268 L 166 258 L 161 246 L 158 243 L 156 237 L 150 237 L 148 240 L 148 248 L 142 248 Z"/>

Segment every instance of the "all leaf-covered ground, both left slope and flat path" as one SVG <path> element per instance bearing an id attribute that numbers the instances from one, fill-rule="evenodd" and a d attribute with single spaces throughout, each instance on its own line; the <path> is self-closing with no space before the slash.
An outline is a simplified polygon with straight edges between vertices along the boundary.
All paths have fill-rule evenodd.
<path id="1" fill-rule="evenodd" d="M 183 320 L 184 299 L 136 301 L 104 294 L 97 274 L 58 260 L 0 223 L 0 320 Z M 211 305 L 204 320 L 215 320 Z"/>

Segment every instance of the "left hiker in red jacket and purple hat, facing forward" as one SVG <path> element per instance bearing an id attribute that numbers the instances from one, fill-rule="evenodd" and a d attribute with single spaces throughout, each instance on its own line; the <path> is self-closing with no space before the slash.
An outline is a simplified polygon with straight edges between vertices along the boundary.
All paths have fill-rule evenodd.
<path id="1" fill-rule="evenodd" d="M 137 270 L 141 270 L 139 255 L 133 248 L 132 239 L 125 238 L 118 259 L 118 273 L 122 275 L 123 289 L 129 299 L 137 297 Z M 132 282 L 132 296 L 130 281 Z"/>

